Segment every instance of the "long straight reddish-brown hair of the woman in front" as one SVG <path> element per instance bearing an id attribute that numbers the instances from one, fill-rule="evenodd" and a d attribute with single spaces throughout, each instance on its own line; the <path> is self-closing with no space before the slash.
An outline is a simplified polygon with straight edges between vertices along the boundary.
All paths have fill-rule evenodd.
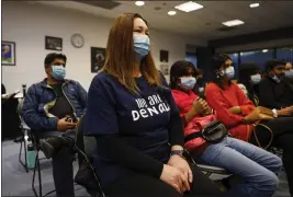
<path id="1" fill-rule="evenodd" d="M 132 93 L 138 93 L 139 91 L 133 77 L 135 70 L 133 28 L 136 18 L 140 18 L 147 24 L 142 15 L 137 13 L 125 13 L 115 20 L 114 25 L 110 30 L 106 59 L 102 69 L 116 78 Z M 146 78 L 147 82 L 151 85 L 160 86 L 160 76 L 150 51 L 142 60 L 140 65 L 142 74 Z"/>

